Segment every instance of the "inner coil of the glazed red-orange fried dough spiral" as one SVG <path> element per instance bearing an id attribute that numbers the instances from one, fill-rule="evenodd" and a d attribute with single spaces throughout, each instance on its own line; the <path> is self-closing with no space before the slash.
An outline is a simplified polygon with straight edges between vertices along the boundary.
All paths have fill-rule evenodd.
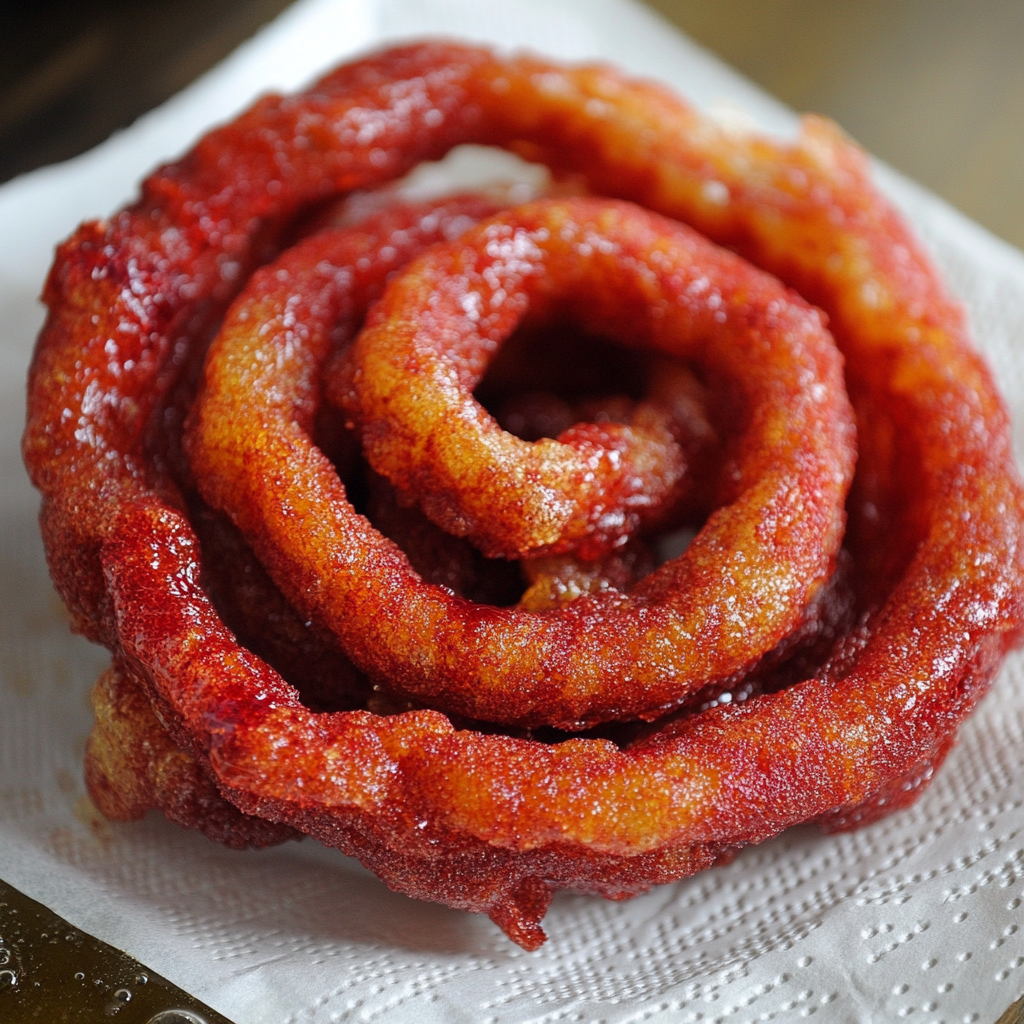
<path id="1" fill-rule="evenodd" d="M 589 531 L 569 550 L 593 559 L 607 550 L 594 550 L 595 534 L 625 539 L 643 520 L 621 514 L 617 470 L 630 493 L 652 481 L 644 505 L 655 514 L 677 483 L 640 442 L 635 458 L 609 458 L 616 424 L 573 426 L 562 437 L 575 446 L 531 445 L 475 402 L 486 356 L 530 305 L 689 359 L 743 410 L 719 507 L 684 555 L 628 595 L 609 589 L 543 615 L 480 606 L 419 579 L 355 512 L 309 436 L 338 309 L 344 319 L 360 304 L 353 275 L 336 268 L 375 251 L 362 232 L 378 229 L 332 236 L 333 249 L 316 237 L 259 271 L 211 347 L 194 413 L 204 496 L 293 604 L 392 691 L 469 718 L 564 729 L 669 710 L 792 632 L 831 574 L 853 464 L 841 362 L 817 310 L 682 225 L 593 199 L 499 214 L 395 278 L 353 355 L 364 447 L 441 525 L 468 524 L 451 532 L 522 541 L 555 528 L 564 539 L 553 520 L 580 507 L 559 498 L 575 483 Z M 397 249 L 386 227 L 380 238 Z M 488 313 L 467 316 L 470 302 Z M 615 525 L 602 532 L 605 513 Z"/>

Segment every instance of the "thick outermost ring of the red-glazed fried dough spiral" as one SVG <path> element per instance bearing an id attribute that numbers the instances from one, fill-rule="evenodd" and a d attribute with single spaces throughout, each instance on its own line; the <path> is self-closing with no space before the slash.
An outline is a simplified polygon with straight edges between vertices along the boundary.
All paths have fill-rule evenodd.
<path id="1" fill-rule="evenodd" d="M 199 377 L 208 340 L 251 273 L 318 204 L 466 141 L 579 174 L 593 194 L 656 213 L 635 214 L 648 226 L 659 217 L 685 221 L 828 317 L 857 430 L 840 556 L 847 567 L 823 586 L 828 570 L 820 566 L 830 567 L 835 552 L 826 545 L 817 555 L 810 603 L 799 621 L 788 620 L 794 634 L 767 653 L 775 641 L 762 638 L 739 658 L 757 662 L 749 685 L 735 681 L 751 694 L 742 702 L 712 699 L 713 707 L 684 707 L 650 725 L 571 738 L 535 728 L 532 713 L 512 716 L 532 731 L 503 734 L 423 708 L 312 711 L 239 642 L 211 601 L 187 515 L 198 501 L 195 481 L 182 468 L 180 441 L 169 439 L 180 437 L 182 395 Z M 597 211 L 587 214 L 592 220 L 634 216 L 622 213 L 634 207 L 591 202 L 577 209 Z M 513 211 L 504 223 L 532 224 L 556 209 L 565 207 Z M 681 229 L 666 230 L 675 238 Z M 422 266 L 455 251 L 428 254 Z M 398 298 L 389 292 L 380 309 L 401 305 L 408 280 L 417 280 L 415 270 L 394 283 Z M 183 760 L 164 763 L 183 780 L 175 784 L 199 795 L 179 801 L 178 820 L 190 816 L 216 833 L 234 808 L 269 823 L 267 831 L 239 826 L 252 842 L 270 841 L 278 828 L 313 836 L 359 857 L 393 888 L 486 912 L 535 948 L 557 889 L 623 898 L 799 821 L 852 827 L 905 806 L 1019 638 L 1024 503 L 1002 403 L 962 311 L 871 186 L 863 157 L 822 122 L 806 122 L 795 143 L 777 143 L 720 130 L 663 89 L 606 68 L 449 43 L 402 47 L 339 69 L 304 94 L 267 97 L 211 132 L 157 171 L 137 204 L 80 228 L 58 250 L 44 298 L 49 316 L 31 371 L 24 451 L 43 494 L 54 581 L 76 628 L 116 656 L 117 675 L 97 690 L 103 716 L 90 761 L 92 792 L 113 814 L 168 806 L 166 778 L 135 785 L 120 808 L 117 799 L 129 788 L 119 773 L 156 772 L 130 754 L 132 737 L 166 729 Z M 380 333 L 376 316 L 371 327 Z M 280 351 L 289 355 L 287 346 Z M 691 349 L 686 355 L 700 359 Z M 387 424 L 387 436 L 391 414 L 380 419 L 356 383 L 372 449 L 375 424 Z M 709 383 L 728 394 L 717 378 Z M 307 410 L 319 386 L 303 385 Z M 830 384 L 825 390 L 834 410 L 845 408 Z M 829 429 L 842 434 L 837 415 Z M 317 460 L 310 446 L 292 449 L 296 465 Z M 840 496 L 845 451 L 825 458 Z M 389 459 L 375 458 L 388 471 Z M 264 483 L 267 503 L 275 493 L 281 499 L 278 475 Z M 440 494 L 442 502 L 427 505 L 443 506 L 437 517 L 445 520 L 452 493 Z M 326 557 L 315 547 L 323 499 L 289 492 L 280 500 L 282 527 L 292 519 L 311 524 L 299 542 L 309 563 Z M 835 510 L 825 520 L 833 525 L 820 531 L 830 536 Z M 392 571 L 409 575 L 393 559 Z M 270 574 L 288 585 L 288 573 L 271 567 Z M 655 582 L 637 587 L 660 598 L 662 578 L 647 579 Z M 301 580 L 303 600 L 322 586 Z M 408 593 L 396 589 L 401 600 Z M 518 614 L 559 622 L 578 602 Z M 324 605 L 308 607 L 327 617 Z M 360 628 L 406 627 L 400 603 L 375 597 L 355 607 Z M 481 617 L 492 616 L 480 607 Z M 348 627 L 327 625 L 357 665 L 364 660 Z M 432 625 L 427 616 L 415 631 L 429 637 Z M 397 691 L 415 692 L 401 673 Z M 346 699 L 357 691 L 353 685 Z M 675 705 L 681 695 L 667 694 L 654 702 Z M 143 695 L 152 719 L 138 702 Z M 457 710 L 490 714 L 499 702 Z M 590 719 L 582 707 L 553 721 L 606 717 Z M 642 700 L 630 707 L 625 714 L 655 710 Z M 121 761 L 108 745 L 119 733 L 129 749 Z"/>

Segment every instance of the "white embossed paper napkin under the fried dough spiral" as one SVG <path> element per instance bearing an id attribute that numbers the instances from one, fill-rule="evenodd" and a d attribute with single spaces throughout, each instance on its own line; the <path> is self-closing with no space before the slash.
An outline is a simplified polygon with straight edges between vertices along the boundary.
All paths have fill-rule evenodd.
<path id="1" fill-rule="evenodd" d="M 989 1024 L 1024 992 L 1019 656 L 909 811 L 849 836 L 798 828 L 628 903 L 556 898 L 536 953 L 485 919 L 394 895 L 312 842 L 240 854 L 157 815 L 112 824 L 91 811 L 86 697 L 106 656 L 68 635 L 17 452 L 52 247 L 257 92 L 437 34 L 611 59 L 770 130 L 795 125 L 629 0 L 304 0 L 131 129 L 0 188 L 0 878 L 239 1024 Z M 1020 441 L 1024 257 L 893 172 L 879 176 L 967 303 Z"/>

